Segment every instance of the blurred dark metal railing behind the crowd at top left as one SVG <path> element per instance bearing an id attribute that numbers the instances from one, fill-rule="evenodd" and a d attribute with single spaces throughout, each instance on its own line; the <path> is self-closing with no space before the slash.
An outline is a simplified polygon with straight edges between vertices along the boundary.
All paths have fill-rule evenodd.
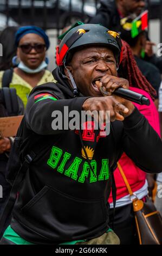
<path id="1" fill-rule="evenodd" d="M 95 15 L 98 0 L 0 0 L 0 13 L 18 25 L 37 25 L 43 29 L 63 28 L 70 20 L 85 21 Z M 92 10 L 90 10 L 90 8 Z"/>

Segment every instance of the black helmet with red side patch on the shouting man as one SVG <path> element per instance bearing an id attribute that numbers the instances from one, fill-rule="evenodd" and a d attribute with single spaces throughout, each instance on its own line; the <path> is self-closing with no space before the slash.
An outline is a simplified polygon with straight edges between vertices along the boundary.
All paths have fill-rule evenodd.
<path id="1" fill-rule="evenodd" d="M 66 63 L 68 52 L 88 45 L 103 45 L 111 48 L 117 65 L 120 64 L 122 44 L 119 34 L 99 24 L 83 24 L 71 29 L 62 39 L 56 53 L 57 65 L 62 66 Z"/>

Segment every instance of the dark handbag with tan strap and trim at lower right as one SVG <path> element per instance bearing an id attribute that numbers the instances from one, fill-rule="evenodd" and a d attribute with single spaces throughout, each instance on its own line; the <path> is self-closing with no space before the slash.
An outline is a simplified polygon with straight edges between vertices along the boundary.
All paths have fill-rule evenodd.
<path id="1" fill-rule="evenodd" d="M 162 218 L 151 198 L 146 202 L 139 200 L 131 190 L 128 180 L 118 162 L 118 168 L 125 181 L 133 203 L 135 224 L 140 245 L 162 245 Z"/>

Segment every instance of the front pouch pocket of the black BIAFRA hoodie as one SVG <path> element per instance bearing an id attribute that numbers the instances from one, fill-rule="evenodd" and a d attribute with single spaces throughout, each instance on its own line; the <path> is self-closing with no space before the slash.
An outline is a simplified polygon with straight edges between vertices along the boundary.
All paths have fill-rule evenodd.
<path id="1" fill-rule="evenodd" d="M 83 200 L 49 186 L 44 186 L 22 213 L 33 230 L 55 241 L 73 240 L 107 220 L 104 198 Z"/>

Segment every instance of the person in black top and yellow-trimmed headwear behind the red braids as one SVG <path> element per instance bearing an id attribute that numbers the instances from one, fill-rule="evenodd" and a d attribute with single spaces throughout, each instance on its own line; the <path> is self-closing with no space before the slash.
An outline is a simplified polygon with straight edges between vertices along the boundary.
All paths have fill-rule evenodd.
<path id="1" fill-rule="evenodd" d="M 137 33 L 135 34 L 133 34 L 134 22 L 138 23 Z M 147 81 L 151 84 L 151 86 L 157 92 L 157 95 L 154 96 L 155 98 L 154 103 L 155 103 L 155 106 L 158 108 L 158 96 L 159 96 L 158 94 L 159 94 L 159 87 L 161 83 L 161 75 L 157 66 L 155 66 L 153 63 L 146 61 L 145 47 L 147 44 L 148 32 L 147 32 L 147 29 L 145 30 L 142 29 L 142 22 L 143 21 L 141 16 L 139 16 L 138 20 L 134 20 L 134 16 L 131 16 L 131 15 L 126 17 L 125 19 L 122 19 L 120 36 L 121 36 L 121 39 L 126 41 L 127 44 L 130 46 L 130 48 L 127 47 L 127 51 L 128 51 L 127 58 L 132 56 L 131 54 L 132 52 L 135 62 L 137 62 L 137 66 L 140 69 L 142 75 L 146 77 Z M 132 67 L 128 66 L 127 72 L 129 72 L 129 78 L 131 78 L 131 73 L 135 71 L 135 70 L 132 70 Z M 137 74 L 137 71 L 136 71 L 136 74 Z M 137 76 L 135 76 L 135 81 L 134 81 L 135 84 L 141 83 L 142 77 L 138 77 L 138 81 L 136 79 L 137 79 Z M 132 79 L 131 79 L 131 82 L 132 82 Z M 146 87 L 147 87 L 147 83 L 145 85 L 145 88 Z M 148 92 L 148 90 L 146 90 L 146 92 Z"/>

